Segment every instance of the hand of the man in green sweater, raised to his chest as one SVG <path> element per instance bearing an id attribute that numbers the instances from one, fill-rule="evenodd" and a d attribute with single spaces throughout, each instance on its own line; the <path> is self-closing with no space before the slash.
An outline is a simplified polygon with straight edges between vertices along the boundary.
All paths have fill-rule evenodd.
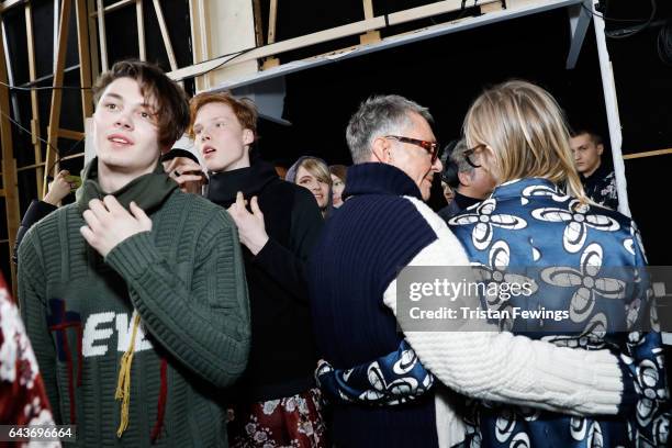
<path id="1" fill-rule="evenodd" d="M 103 257 L 124 239 L 152 231 L 152 220 L 143 209 L 131 202 L 128 213 L 112 195 L 89 202 L 83 219 L 87 225 L 79 229 L 81 235 Z"/>

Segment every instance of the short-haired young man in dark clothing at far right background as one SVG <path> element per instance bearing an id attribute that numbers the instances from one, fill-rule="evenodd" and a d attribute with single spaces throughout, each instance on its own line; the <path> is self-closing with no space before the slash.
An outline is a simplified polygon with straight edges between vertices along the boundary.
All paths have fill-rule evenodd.
<path id="1" fill-rule="evenodd" d="M 600 205 L 618 210 L 616 175 L 602 163 L 602 137 L 591 131 L 581 130 L 572 134 L 570 146 L 585 194 Z"/>

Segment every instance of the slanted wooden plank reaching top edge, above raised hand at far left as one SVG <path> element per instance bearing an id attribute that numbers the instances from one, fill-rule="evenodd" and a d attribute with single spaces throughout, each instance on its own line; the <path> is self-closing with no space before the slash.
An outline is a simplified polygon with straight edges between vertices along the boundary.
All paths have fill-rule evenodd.
<path id="1" fill-rule="evenodd" d="M 63 86 L 63 70 L 65 68 L 66 51 L 68 45 L 68 22 L 70 20 L 70 0 L 64 0 L 63 7 L 60 9 L 60 21 L 58 25 L 58 53 L 56 54 L 56 71 L 54 72 L 54 86 Z M 46 159 L 44 161 L 46 169 L 44 170 L 44 183 L 42 186 L 43 198 L 44 194 L 46 194 L 47 176 L 52 175 L 49 171 L 53 169 L 58 170 L 58 167 L 56 167 L 55 164 L 56 154 L 54 154 L 54 148 L 58 143 L 58 127 L 60 123 L 61 99 L 61 89 L 52 90 L 52 107 L 49 109 L 49 127 L 47 133 L 48 143 L 46 148 Z"/>

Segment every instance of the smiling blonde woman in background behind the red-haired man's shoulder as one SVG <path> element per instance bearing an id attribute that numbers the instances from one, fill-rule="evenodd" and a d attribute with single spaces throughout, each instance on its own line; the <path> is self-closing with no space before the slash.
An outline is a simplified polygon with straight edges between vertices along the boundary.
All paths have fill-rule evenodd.
<path id="1" fill-rule="evenodd" d="M 287 171 L 285 180 L 306 188 L 313 193 L 322 216 L 328 216 L 332 204 L 332 175 L 323 159 L 311 156 L 300 157 Z"/>

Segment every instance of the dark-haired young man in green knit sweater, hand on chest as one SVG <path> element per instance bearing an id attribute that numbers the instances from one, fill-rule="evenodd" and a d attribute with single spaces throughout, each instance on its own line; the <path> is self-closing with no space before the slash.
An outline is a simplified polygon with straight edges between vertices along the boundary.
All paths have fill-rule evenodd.
<path id="1" fill-rule="evenodd" d="M 249 304 L 235 224 L 160 154 L 189 123 L 157 67 L 94 90 L 97 158 L 77 201 L 20 247 L 19 296 L 55 419 L 80 446 L 227 446 L 221 389 L 244 371 Z"/>

